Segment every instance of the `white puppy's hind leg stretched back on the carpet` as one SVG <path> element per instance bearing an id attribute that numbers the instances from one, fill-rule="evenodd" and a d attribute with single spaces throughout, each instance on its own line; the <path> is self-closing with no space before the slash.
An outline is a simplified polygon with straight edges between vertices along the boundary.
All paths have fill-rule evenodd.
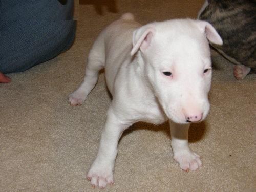
<path id="1" fill-rule="evenodd" d="M 90 51 L 83 82 L 76 91 L 69 95 L 69 103 L 72 106 L 81 105 L 86 100 L 98 81 L 99 70 L 104 68 L 104 63 L 104 45 L 99 37 Z"/>

